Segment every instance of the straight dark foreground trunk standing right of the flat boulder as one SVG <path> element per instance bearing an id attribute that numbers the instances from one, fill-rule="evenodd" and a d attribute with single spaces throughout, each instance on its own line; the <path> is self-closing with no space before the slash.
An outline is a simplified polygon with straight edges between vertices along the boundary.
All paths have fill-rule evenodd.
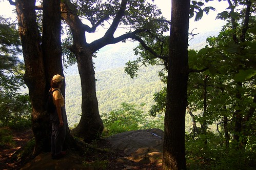
<path id="1" fill-rule="evenodd" d="M 186 169 L 189 0 L 172 0 L 163 169 Z"/>

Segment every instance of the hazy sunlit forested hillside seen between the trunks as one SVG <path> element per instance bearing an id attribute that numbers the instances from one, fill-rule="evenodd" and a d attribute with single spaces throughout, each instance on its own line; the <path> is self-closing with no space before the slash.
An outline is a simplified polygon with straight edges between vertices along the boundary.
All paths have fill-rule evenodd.
<path id="1" fill-rule="evenodd" d="M 146 103 L 145 113 L 153 104 L 153 94 L 160 91 L 164 84 L 157 72 L 160 67 L 142 67 L 139 76 L 131 79 L 124 68 L 97 72 L 96 91 L 100 113 L 115 110 L 122 102 Z M 81 84 L 79 75 L 66 76 L 66 110 L 69 126 L 80 120 L 81 114 Z"/>

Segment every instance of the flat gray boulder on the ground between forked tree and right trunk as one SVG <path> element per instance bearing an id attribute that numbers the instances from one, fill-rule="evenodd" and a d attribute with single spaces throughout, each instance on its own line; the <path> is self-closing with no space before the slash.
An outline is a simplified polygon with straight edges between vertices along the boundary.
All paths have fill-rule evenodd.
<path id="1" fill-rule="evenodd" d="M 106 138 L 114 150 L 123 151 L 127 157 L 117 161 L 128 163 L 162 163 L 164 132 L 160 129 L 129 131 Z"/>

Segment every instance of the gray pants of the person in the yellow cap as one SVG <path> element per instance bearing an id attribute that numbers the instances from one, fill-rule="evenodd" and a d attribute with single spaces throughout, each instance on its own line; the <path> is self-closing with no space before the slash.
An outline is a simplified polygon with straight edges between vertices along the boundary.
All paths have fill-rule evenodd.
<path id="1" fill-rule="evenodd" d="M 60 119 L 58 119 L 57 111 L 50 115 L 52 122 L 52 134 L 51 134 L 51 152 L 52 155 L 57 155 L 62 152 L 62 147 L 65 141 L 66 136 L 66 124 L 67 124 L 67 115 L 65 107 L 61 108 L 62 110 L 62 119 L 64 125 L 60 128 Z"/>

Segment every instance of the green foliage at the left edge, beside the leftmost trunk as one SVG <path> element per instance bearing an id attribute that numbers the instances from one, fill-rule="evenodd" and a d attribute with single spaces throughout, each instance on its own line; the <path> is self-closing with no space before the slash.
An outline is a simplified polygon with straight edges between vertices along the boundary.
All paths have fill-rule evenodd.
<path id="1" fill-rule="evenodd" d="M 30 123 L 31 109 L 28 95 L 17 93 L 25 84 L 21 41 L 10 18 L 0 21 L 0 126 L 22 128 Z"/>

